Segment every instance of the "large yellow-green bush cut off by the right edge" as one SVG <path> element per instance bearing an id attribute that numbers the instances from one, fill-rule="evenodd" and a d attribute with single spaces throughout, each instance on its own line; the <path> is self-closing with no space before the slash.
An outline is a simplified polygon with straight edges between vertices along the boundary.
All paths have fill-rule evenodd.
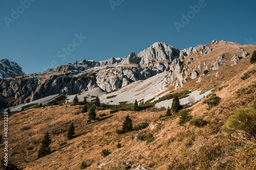
<path id="1" fill-rule="evenodd" d="M 234 112 L 234 115 L 228 118 L 223 130 L 230 133 L 236 130 L 243 130 L 256 137 L 256 104 Z"/>

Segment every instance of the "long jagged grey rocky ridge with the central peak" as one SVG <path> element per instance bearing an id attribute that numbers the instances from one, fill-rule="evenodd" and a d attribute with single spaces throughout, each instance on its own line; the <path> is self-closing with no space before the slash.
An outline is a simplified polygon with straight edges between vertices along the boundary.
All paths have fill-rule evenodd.
<path id="1" fill-rule="evenodd" d="M 132 52 L 124 58 L 75 61 L 48 69 L 40 74 L 27 75 L 25 78 L 1 79 L 0 94 L 2 98 L 16 99 L 16 102 L 8 105 L 14 106 L 51 94 L 77 94 L 95 87 L 110 92 L 164 71 L 167 76 L 159 90 L 168 86 L 175 86 L 175 89 L 178 89 L 184 86 L 189 77 L 191 79 L 199 77 L 197 82 L 201 82 L 204 75 L 200 72 L 203 70 L 218 70 L 222 64 L 229 62 L 232 65 L 248 55 L 242 48 L 237 48 L 233 59 L 230 54 L 223 53 L 213 57 L 212 60 L 197 62 L 207 56 L 214 56 L 212 53 L 218 48 L 224 46 L 226 49 L 231 44 L 236 43 L 213 40 L 210 44 L 180 51 L 174 46 L 156 42 L 139 54 Z M 192 63 L 196 65 L 191 67 Z"/>

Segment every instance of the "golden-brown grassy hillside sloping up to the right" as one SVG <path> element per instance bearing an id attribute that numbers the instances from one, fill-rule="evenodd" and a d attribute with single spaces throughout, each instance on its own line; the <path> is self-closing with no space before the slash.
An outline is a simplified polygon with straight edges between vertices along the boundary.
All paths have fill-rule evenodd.
<path id="1" fill-rule="evenodd" d="M 51 109 L 46 106 L 11 113 L 8 121 L 9 154 L 14 155 L 9 157 L 9 161 L 24 169 L 79 169 L 82 161 L 89 165 L 87 169 L 255 169 L 256 74 L 253 71 L 255 64 L 249 61 L 256 48 L 255 45 L 220 41 L 216 50 L 212 50 L 209 55 L 205 53 L 215 45 L 218 46 L 215 43 L 206 45 L 209 46 L 207 49 L 202 46 L 204 50 L 201 52 L 192 53 L 192 50 L 190 53 L 189 49 L 186 50 L 189 57 L 177 61 L 177 69 L 163 72 L 166 74 L 164 76 L 159 74 L 152 77 L 152 83 L 150 79 L 148 82 L 143 80 L 146 82 L 143 85 L 147 86 L 140 85 L 140 81 L 133 82 L 109 94 L 102 93 L 100 97 L 104 103 L 109 102 L 106 100 L 108 95 L 117 95 L 113 97 L 113 103 L 130 100 L 129 96 L 126 99 L 126 95 L 135 88 L 136 83 L 140 90 L 134 89 L 133 95 L 138 94 L 134 95 L 134 100 L 153 98 L 152 94 L 147 94 L 148 98 L 140 94 L 143 90 L 146 93 L 147 88 L 152 93 L 158 89 L 156 96 L 184 90 L 201 90 L 203 93 L 215 88 L 211 90 L 212 93 L 221 98 L 216 106 L 209 107 L 204 103 L 210 99 L 211 94 L 192 106 L 186 106 L 186 109 L 191 109 L 190 114 L 194 118 L 190 123 L 179 126 L 180 113 L 162 117 L 160 115 L 165 115 L 166 109 L 155 107 L 114 113 L 98 109 L 97 116 L 105 115 L 88 123 L 88 113 L 81 113 L 82 105 L 72 106 L 72 100 L 69 100 L 69 103 Z M 237 54 L 243 56 L 244 51 L 248 53 L 247 57 L 234 57 Z M 200 53 L 205 53 L 204 57 Z M 223 57 L 219 58 L 221 55 Z M 188 61 L 189 67 L 178 70 Z M 209 72 L 203 74 L 206 69 Z M 179 71 L 182 77 L 175 76 Z M 198 72 L 194 79 L 191 78 L 193 71 Z M 246 73 L 250 76 L 242 80 L 241 77 Z M 157 78 L 165 82 L 161 84 Z M 70 99 L 73 99 L 72 96 Z M 130 115 L 134 127 L 143 122 L 150 126 L 139 131 L 117 134 L 116 130 L 122 128 L 126 115 Z M 71 123 L 75 125 L 76 136 L 67 140 L 67 130 Z M 3 124 L 1 121 L 2 127 Z M 155 129 L 152 125 L 155 125 Z M 40 142 L 47 131 L 52 138 L 52 153 L 38 158 Z M 153 137 L 139 137 L 138 134 L 152 134 Z M 121 148 L 117 148 L 118 143 Z M 3 154 L 4 144 L 0 147 Z M 101 151 L 104 149 L 110 150 L 111 154 L 103 157 Z"/>

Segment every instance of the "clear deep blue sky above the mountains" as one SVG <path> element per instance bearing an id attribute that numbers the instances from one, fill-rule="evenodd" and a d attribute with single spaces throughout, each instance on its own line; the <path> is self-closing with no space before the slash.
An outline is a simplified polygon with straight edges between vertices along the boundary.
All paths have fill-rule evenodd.
<path id="1" fill-rule="evenodd" d="M 256 44 L 255 7 L 255 0 L 0 0 L 0 59 L 31 74 L 124 57 L 157 41 L 180 50 L 212 39 Z"/>

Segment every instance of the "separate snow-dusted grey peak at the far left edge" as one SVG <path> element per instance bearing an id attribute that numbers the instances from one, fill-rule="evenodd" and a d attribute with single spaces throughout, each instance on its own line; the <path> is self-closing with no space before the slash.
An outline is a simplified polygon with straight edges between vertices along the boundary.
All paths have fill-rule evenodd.
<path id="1" fill-rule="evenodd" d="M 25 72 L 16 62 L 8 59 L 0 60 L 0 79 L 16 76 L 24 76 Z"/>

